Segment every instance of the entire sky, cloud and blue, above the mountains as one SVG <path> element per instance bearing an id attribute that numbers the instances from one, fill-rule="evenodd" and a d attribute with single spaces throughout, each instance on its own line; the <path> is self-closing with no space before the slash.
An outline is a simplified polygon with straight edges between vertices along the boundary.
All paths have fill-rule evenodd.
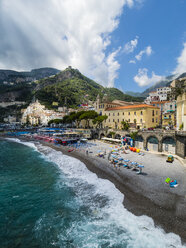
<path id="1" fill-rule="evenodd" d="M 0 0 L 0 69 L 68 66 L 143 92 L 186 72 L 186 0 Z"/>

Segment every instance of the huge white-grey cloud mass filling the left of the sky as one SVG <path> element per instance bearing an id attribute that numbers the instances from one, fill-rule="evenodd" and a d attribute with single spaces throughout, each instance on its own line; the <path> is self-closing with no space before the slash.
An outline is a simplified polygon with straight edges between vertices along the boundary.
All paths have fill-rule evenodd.
<path id="1" fill-rule="evenodd" d="M 27 70 L 71 65 L 107 86 L 119 63 L 106 54 L 123 7 L 136 0 L 0 0 L 0 63 Z"/>

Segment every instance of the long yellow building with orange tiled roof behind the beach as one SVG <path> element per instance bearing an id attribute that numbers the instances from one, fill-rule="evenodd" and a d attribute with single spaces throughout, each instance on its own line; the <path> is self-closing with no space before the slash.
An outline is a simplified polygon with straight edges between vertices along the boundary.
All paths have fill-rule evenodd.
<path id="1" fill-rule="evenodd" d="M 108 116 L 103 126 L 114 129 L 122 129 L 122 121 L 137 129 L 156 127 L 160 121 L 160 109 L 147 104 L 107 108 L 102 114 Z"/>

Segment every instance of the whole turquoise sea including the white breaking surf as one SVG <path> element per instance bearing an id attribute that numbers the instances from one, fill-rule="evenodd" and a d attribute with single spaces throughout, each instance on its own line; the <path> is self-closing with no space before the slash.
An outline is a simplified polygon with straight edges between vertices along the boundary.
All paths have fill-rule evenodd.
<path id="1" fill-rule="evenodd" d="M 0 248 L 181 248 L 174 233 L 124 208 L 124 195 L 79 160 L 0 140 Z"/>

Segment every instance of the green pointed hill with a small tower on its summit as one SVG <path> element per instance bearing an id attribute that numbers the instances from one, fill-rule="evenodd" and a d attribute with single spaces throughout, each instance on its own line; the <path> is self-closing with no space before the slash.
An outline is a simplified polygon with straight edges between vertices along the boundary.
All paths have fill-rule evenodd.
<path id="1" fill-rule="evenodd" d="M 34 93 L 36 98 L 49 108 L 53 102 L 58 102 L 60 106 L 66 103 L 69 107 L 76 107 L 95 101 L 98 94 L 107 94 L 110 101 L 143 101 L 142 98 L 126 95 L 116 88 L 104 88 L 71 67 L 54 77 L 38 81 Z"/>

